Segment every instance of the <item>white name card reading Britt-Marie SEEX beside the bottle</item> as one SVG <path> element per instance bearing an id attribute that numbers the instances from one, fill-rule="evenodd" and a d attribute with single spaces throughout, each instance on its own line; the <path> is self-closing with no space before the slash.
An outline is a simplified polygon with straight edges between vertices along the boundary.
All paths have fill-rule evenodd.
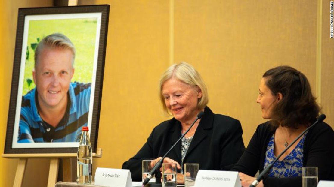
<path id="1" fill-rule="evenodd" d="M 95 185 L 107 187 L 132 187 L 130 170 L 97 168 Z"/>

